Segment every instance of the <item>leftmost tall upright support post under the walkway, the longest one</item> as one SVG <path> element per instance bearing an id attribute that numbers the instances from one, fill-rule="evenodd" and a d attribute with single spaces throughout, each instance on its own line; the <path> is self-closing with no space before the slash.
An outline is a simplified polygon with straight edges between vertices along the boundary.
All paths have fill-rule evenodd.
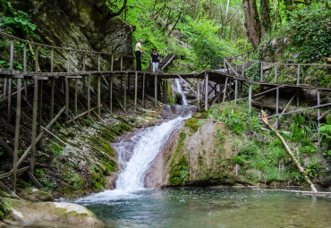
<path id="1" fill-rule="evenodd" d="M 17 157 L 19 153 L 19 139 L 20 139 L 20 121 L 21 121 L 21 79 L 17 80 L 17 102 L 16 102 L 16 122 L 15 122 L 15 139 L 13 146 L 13 175 L 12 175 L 12 189 L 16 189 L 16 173 L 17 173 Z"/>

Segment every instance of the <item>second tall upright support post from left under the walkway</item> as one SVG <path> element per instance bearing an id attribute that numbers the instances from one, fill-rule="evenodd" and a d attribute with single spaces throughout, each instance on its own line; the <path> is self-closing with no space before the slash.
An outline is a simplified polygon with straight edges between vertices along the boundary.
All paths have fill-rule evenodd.
<path id="1" fill-rule="evenodd" d="M 37 115 L 38 115 L 37 106 L 38 106 L 38 80 L 35 80 L 35 88 L 33 93 L 32 132 L 31 132 L 31 147 L 30 147 L 32 149 L 31 160 L 30 160 L 31 173 L 34 173 L 35 158 L 36 158 L 36 144 L 37 144 L 36 134 L 37 134 Z M 21 156 L 21 158 L 23 156 Z M 18 166 L 20 166 L 20 161 L 22 162 L 21 158 L 19 160 Z"/>

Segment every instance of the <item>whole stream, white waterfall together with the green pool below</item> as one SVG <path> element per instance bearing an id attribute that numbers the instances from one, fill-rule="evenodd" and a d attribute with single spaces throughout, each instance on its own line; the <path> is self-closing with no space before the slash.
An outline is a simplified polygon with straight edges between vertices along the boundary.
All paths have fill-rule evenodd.
<path id="1" fill-rule="evenodd" d="M 186 105 L 179 80 L 176 84 Z M 106 227 L 331 227 L 330 198 L 253 188 L 145 188 L 150 164 L 190 116 L 180 114 L 116 143 L 116 189 L 75 203 L 88 207 Z"/>

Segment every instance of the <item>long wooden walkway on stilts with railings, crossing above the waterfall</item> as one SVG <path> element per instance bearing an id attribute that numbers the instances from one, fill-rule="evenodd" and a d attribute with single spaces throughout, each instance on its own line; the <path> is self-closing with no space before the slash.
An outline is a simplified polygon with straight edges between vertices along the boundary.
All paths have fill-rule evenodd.
<path id="1" fill-rule="evenodd" d="M 158 90 L 162 91 L 161 99 L 163 103 L 167 102 L 167 80 L 169 79 L 180 79 L 183 80 L 184 83 L 188 85 L 188 87 L 196 94 L 198 100 L 199 110 L 208 110 L 208 107 L 220 102 L 225 102 L 225 100 L 233 100 L 236 104 L 239 100 L 248 99 L 248 104 L 251 107 L 254 105 L 253 97 L 259 97 L 265 95 L 270 92 L 276 91 L 276 114 L 268 116 L 268 118 L 276 117 L 275 125 L 278 125 L 278 119 L 281 118 L 285 114 L 293 114 L 300 113 L 306 110 L 310 110 L 313 108 L 318 109 L 317 120 L 318 123 L 320 120 L 329 112 L 329 108 L 326 109 L 324 114 L 321 113 L 323 108 L 327 106 L 331 106 L 331 103 L 321 104 L 320 102 L 320 92 L 329 93 L 331 89 L 329 88 L 315 88 L 307 85 L 301 84 L 301 67 L 303 66 L 320 66 L 320 67 L 330 67 L 330 64 L 301 64 L 301 63 L 267 63 L 267 62 L 259 62 L 255 60 L 250 60 L 250 56 L 254 55 L 253 51 L 244 53 L 243 55 L 227 57 L 224 59 L 224 68 L 222 70 L 215 71 L 205 71 L 199 73 L 180 73 L 180 74 L 167 74 L 167 73 L 151 73 L 151 72 L 136 72 L 131 71 L 129 69 L 124 69 L 123 60 L 125 59 L 133 59 L 132 55 L 123 55 L 118 53 L 105 53 L 105 52 L 94 52 L 88 50 L 76 50 L 72 48 L 66 48 L 61 46 L 49 46 L 45 44 L 40 44 L 36 42 L 31 42 L 28 40 L 23 40 L 21 38 L 13 37 L 12 35 L 6 34 L 4 32 L 0 32 L 0 36 L 5 40 L 9 41 L 10 44 L 8 47 L 9 51 L 9 69 L 0 69 L 0 78 L 3 79 L 4 83 L 4 97 L 2 103 L 6 102 L 7 108 L 7 122 L 12 122 L 13 119 L 15 121 L 15 131 L 14 131 L 14 139 L 13 139 L 13 148 L 9 147 L 7 142 L 4 139 L 0 138 L 0 144 L 3 148 L 13 156 L 13 166 L 10 170 L 0 171 L 0 180 L 7 178 L 7 183 L 11 182 L 11 184 L 4 184 L 4 182 L 0 182 L 0 187 L 7 192 L 9 192 L 13 197 L 17 197 L 15 194 L 16 188 L 16 178 L 18 174 L 28 173 L 30 176 L 30 180 L 38 186 L 38 188 L 42 188 L 41 184 L 34 177 L 35 171 L 35 160 L 36 160 L 36 145 L 38 141 L 45 135 L 53 135 L 52 126 L 55 122 L 59 121 L 59 117 L 65 115 L 65 119 L 67 123 L 74 122 L 78 124 L 77 119 L 81 118 L 84 115 L 95 114 L 98 118 L 100 117 L 100 110 L 102 107 L 101 100 L 101 84 L 106 85 L 108 88 L 108 94 L 103 95 L 102 97 L 109 97 L 106 101 L 108 103 L 106 108 L 109 109 L 110 112 L 113 112 L 113 102 L 116 102 L 121 106 L 124 112 L 127 111 L 127 89 L 131 88 L 130 82 L 131 78 L 134 79 L 134 110 L 137 110 L 139 107 L 138 103 L 138 90 L 140 84 L 141 91 L 141 106 L 145 106 L 145 94 L 146 90 L 146 80 L 154 80 L 154 105 L 157 106 L 158 100 L 160 97 L 157 97 L 160 94 Z M 22 60 L 22 69 L 14 69 L 14 55 L 15 48 L 17 46 L 22 46 L 21 50 L 21 60 Z M 34 71 L 28 70 L 28 55 L 27 52 L 31 50 L 32 46 L 34 46 L 34 54 L 31 63 L 34 63 Z M 29 48 L 29 50 L 28 50 Z M 48 69 L 40 69 L 39 60 L 40 60 L 40 52 L 43 51 L 43 48 L 47 48 L 49 50 L 47 59 L 49 60 Z M 17 52 L 19 53 L 19 52 Z M 55 72 L 55 55 L 66 54 L 66 72 Z M 81 70 L 77 70 L 76 72 L 72 72 L 72 55 L 80 55 L 81 63 L 76 63 L 76 65 L 81 65 Z M 89 71 L 87 71 L 87 62 L 89 61 L 88 55 L 98 56 L 97 65 L 89 65 Z M 45 55 L 43 56 L 45 58 Z M 168 56 L 165 59 L 165 63 L 169 63 L 174 59 L 174 55 Z M 109 65 L 109 69 L 104 69 L 104 63 L 102 61 L 106 61 L 106 64 Z M 239 64 L 240 63 L 240 64 Z M 251 63 L 258 63 L 260 65 L 260 75 L 259 80 L 250 80 L 245 75 L 245 67 L 250 65 Z M 268 69 L 270 66 L 273 66 L 275 69 L 275 79 L 271 83 L 269 80 L 265 78 L 266 66 Z M 277 67 L 279 66 L 288 66 L 295 67 L 297 69 L 296 82 L 293 84 L 279 84 L 278 83 L 278 72 Z M 93 68 L 94 67 L 94 68 Z M 92 88 L 91 85 L 91 77 L 97 78 L 96 88 Z M 121 81 L 120 83 L 120 91 L 121 96 L 114 96 L 114 80 L 118 79 Z M 191 85 L 191 82 L 188 79 L 197 80 L 198 89 L 193 89 L 194 87 Z M 70 83 L 73 80 L 74 83 Z M 82 80 L 82 88 L 79 88 L 79 80 Z M 86 85 L 87 81 L 87 85 Z M 162 86 L 158 87 L 162 82 Z M 140 82 L 140 83 L 139 83 Z M 49 104 L 49 122 L 44 122 L 42 119 L 43 112 L 43 84 L 49 83 L 50 88 L 50 98 L 47 101 Z M 58 89 L 57 84 L 60 84 L 63 89 Z M 71 84 L 73 86 L 73 105 L 70 104 L 70 93 Z M 13 92 L 13 85 L 16 88 L 16 91 Z M 33 86 L 33 101 L 32 104 L 28 99 L 28 87 Z M 253 94 L 253 86 L 258 86 L 263 91 L 256 92 Z M 241 90 L 248 88 L 248 96 L 247 97 L 238 97 L 238 94 Z M 292 89 L 293 97 L 291 97 L 290 101 L 282 112 L 279 112 L 279 96 L 281 89 Z M 300 89 L 310 89 L 317 90 L 317 104 L 315 106 L 298 108 L 292 112 L 286 112 L 286 109 L 293 102 L 296 97 L 297 105 L 300 103 Z M 78 113 L 78 105 L 82 101 L 78 99 L 78 91 L 81 91 L 86 95 L 86 104 L 87 110 Z M 95 92 L 95 90 L 97 92 Z M 257 89 L 255 89 L 257 90 Z M 91 92 L 97 97 L 97 106 L 91 107 Z M 242 91 L 241 91 L 242 92 Z M 64 106 L 55 112 L 55 96 L 56 94 L 63 95 L 65 97 Z M 13 97 L 16 97 L 16 106 L 13 106 Z M 24 117 L 30 119 L 31 122 L 31 142 L 28 148 L 21 148 L 23 151 L 19 153 L 19 139 L 20 139 L 20 122 L 21 122 L 21 98 L 26 103 L 27 106 L 30 107 L 32 112 L 32 118 L 25 115 Z M 122 101 L 121 101 L 122 100 Z M 105 99 L 103 100 L 105 102 Z M 97 112 L 95 111 L 97 110 Z M 15 114 L 15 116 L 12 116 Z M 14 118 L 13 118 L 14 117 Z M 319 139 L 319 137 L 318 137 Z M 20 155 L 20 157 L 19 157 Z M 26 165 L 30 163 L 30 165 Z M 23 165 L 24 164 L 24 165 Z M 8 187 L 10 186 L 10 188 Z"/>

